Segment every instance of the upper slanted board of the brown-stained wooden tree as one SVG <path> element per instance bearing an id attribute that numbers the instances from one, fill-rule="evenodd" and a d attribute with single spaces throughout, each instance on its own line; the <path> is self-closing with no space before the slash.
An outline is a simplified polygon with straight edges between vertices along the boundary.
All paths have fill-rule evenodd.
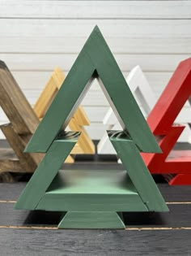
<path id="1" fill-rule="evenodd" d="M 2 61 L 0 62 L 0 105 L 14 126 L 15 132 L 20 134 L 35 132 L 39 120 Z"/>

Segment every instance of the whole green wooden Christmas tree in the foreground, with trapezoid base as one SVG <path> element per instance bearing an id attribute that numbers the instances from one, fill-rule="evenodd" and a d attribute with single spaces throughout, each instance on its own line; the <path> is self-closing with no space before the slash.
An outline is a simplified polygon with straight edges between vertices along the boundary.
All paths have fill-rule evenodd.
<path id="1" fill-rule="evenodd" d="M 125 170 L 59 171 L 79 137 L 64 129 L 95 78 L 123 127 L 108 137 Z M 97 26 L 25 151 L 46 154 L 15 209 L 62 211 L 59 228 L 124 228 L 122 211 L 168 211 L 140 156 L 161 151 Z"/>

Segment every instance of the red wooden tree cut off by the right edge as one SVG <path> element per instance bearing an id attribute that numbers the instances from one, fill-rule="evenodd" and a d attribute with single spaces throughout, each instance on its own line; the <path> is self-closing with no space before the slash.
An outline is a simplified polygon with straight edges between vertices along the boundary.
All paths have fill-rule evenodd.
<path id="1" fill-rule="evenodd" d="M 178 65 L 147 119 L 151 131 L 159 137 L 163 154 L 142 154 L 142 158 L 151 173 L 178 174 L 169 184 L 191 184 L 191 151 L 187 157 L 182 153 L 168 156 L 184 129 L 173 123 L 190 95 L 191 58 Z"/>

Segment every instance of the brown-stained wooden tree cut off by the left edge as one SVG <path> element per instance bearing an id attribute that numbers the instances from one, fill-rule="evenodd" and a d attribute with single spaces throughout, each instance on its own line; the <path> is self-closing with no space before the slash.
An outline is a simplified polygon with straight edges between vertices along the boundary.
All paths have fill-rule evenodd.
<path id="1" fill-rule="evenodd" d="M 0 172 L 32 172 L 40 163 L 42 154 L 23 154 L 39 119 L 19 88 L 6 64 L 0 61 L 0 105 L 11 124 L 2 124 L 1 130 L 18 159 L 0 160 Z"/>

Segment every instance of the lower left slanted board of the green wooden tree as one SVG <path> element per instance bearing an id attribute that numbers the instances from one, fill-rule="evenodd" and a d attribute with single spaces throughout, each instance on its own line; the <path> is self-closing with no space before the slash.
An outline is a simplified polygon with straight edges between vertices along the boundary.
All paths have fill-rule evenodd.
<path id="1" fill-rule="evenodd" d="M 40 162 L 23 193 L 21 193 L 15 204 L 15 209 L 34 210 L 36 208 L 40 198 L 44 196 L 49 184 L 57 175 L 57 171 L 62 167 L 62 163 L 70 154 L 79 134 L 80 132 L 62 132 L 53 141 L 47 154 Z"/>

